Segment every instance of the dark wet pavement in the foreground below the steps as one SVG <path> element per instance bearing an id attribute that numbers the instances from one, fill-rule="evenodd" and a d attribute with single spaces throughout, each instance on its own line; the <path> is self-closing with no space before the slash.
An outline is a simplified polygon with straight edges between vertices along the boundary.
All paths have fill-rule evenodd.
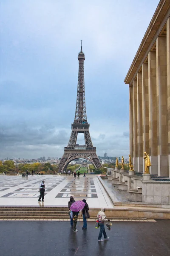
<path id="1" fill-rule="evenodd" d="M 98 242 L 95 222 L 74 233 L 68 221 L 0 221 L 0 256 L 169 256 L 170 220 L 114 222 Z"/>

